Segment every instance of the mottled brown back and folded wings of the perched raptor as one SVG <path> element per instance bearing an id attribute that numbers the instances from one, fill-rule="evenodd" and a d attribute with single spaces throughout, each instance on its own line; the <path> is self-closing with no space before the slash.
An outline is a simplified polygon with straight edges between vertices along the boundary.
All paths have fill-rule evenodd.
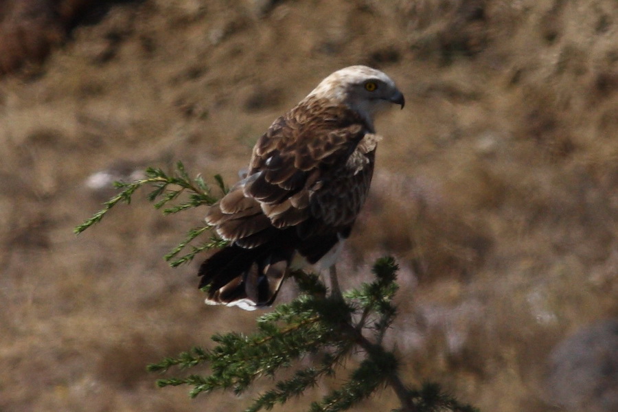
<path id="1" fill-rule="evenodd" d="M 297 106 L 260 137 L 247 178 L 211 207 L 207 222 L 246 248 L 288 227 L 304 240 L 349 232 L 371 181 L 376 145 L 369 131 L 347 108 Z"/>

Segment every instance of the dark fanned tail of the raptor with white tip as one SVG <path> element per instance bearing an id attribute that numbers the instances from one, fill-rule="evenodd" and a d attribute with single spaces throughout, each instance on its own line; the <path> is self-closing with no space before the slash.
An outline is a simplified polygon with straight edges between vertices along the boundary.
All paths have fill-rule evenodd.
<path id="1" fill-rule="evenodd" d="M 270 248 L 269 248 L 270 249 Z M 208 287 L 207 304 L 239 306 L 244 310 L 270 306 L 288 273 L 293 250 L 221 249 L 200 266 L 200 288 Z"/>

